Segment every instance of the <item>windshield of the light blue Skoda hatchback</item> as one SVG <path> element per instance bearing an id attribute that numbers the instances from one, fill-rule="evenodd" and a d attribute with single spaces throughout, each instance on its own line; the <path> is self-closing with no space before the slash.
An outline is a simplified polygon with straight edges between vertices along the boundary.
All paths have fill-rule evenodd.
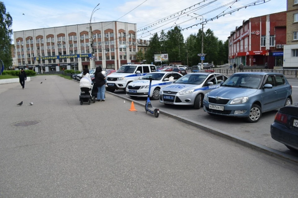
<path id="1" fill-rule="evenodd" d="M 257 89 L 262 78 L 263 75 L 258 74 L 234 74 L 231 75 L 222 86 Z"/>

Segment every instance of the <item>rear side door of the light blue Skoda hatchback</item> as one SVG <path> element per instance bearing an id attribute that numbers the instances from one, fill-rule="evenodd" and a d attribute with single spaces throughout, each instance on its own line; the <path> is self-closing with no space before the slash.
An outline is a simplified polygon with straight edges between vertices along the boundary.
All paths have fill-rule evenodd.
<path id="1" fill-rule="evenodd" d="M 278 96 L 278 101 L 276 102 L 278 107 L 283 107 L 286 102 L 289 86 L 286 84 L 286 81 L 283 75 L 274 75 L 274 79 L 275 79 L 277 96 Z"/>

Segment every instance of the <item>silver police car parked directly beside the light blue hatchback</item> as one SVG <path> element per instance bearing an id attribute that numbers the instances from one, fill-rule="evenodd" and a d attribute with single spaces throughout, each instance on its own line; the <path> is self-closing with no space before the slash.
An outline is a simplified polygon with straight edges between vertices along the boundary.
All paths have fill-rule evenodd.
<path id="1" fill-rule="evenodd" d="M 190 73 L 160 90 L 159 100 L 164 104 L 203 106 L 206 93 L 218 88 L 228 77 L 219 73 Z"/>

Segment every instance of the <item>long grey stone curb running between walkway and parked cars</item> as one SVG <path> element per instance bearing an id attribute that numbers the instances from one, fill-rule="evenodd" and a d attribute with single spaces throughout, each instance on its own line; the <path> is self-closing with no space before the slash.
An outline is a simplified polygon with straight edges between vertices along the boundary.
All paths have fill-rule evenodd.
<path id="1" fill-rule="evenodd" d="M 143 103 L 141 103 L 139 101 L 135 101 L 133 99 L 130 99 L 130 98 L 127 98 L 127 97 L 123 97 L 123 96 L 120 96 L 118 94 L 111 93 L 111 92 L 108 92 L 108 91 L 106 91 L 106 93 L 111 94 L 111 95 L 114 95 L 114 96 L 119 97 L 119 98 L 122 98 L 122 99 L 124 99 L 126 101 L 130 101 L 130 102 L 133 101 L 133 103 L 145 107 L 145 104 L 143 104 Z M 275 150 L 275 149 L 271 149 L 271 148 L 269 148 L 267 146 L 264 146 L 262 144 L 258 144 L 256 142 L 251 141 L 251 140 L 247 140 L 247 139 L 241 138 L 239 136 L 235 136 L 233 134 L 230 134 L 230 133 L 221 131 L 219 129 L 216 129 L 216 128 L 207 126 L 205 124 L 202 124 L 202 123 L 199 123 L 199 122 L 190 120 L 188 118 L 184 118 L 184 117 L 181 117 L 179 115 L 169 113 L 169 112 L 167 112 L 165 110 L 159 110 L 159 111 L 160 111 L 160 114 L 167 115 L 167 116 L 172 117 L 172 118 L 174 118 L 176 120 L 179 120 L 179 121 L 181 121 L 183 123 L 192 125 L 193 127 L 197 127 L 197 128 L 199 128 L 199 129 L 201 129 L 203 131 L 206 131 L 208 133 L 214 134 L 214 135 L 219 136 L 219 137 L 223 137 L 225 139 L 228 139 L 228 140 L 231 140 L 231 141 L 236 142 L 238 144 L 241 144 L 242 146 L 248 147 L 250 149 L 254 149 L 256 151 L 259 151 L 261 153 L 267 154 L 267 155 L 272 156 L 272 157 L 276 157 L 276 158 L 281 159 L 283 161 L 287 161 L 287 162 L 289 162 L 291 164 L 294 164 L 296 166 L 298 165 L 298 157 L 291 156 L 289 154 L 283 153 L 283 152 L 278 151 L 278 150 Z"/>

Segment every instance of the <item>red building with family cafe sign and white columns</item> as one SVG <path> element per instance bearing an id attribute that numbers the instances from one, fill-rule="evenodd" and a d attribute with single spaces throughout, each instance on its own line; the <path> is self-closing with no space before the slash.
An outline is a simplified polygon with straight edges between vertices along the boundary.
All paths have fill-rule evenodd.
<path id="1" fill-rule="evenodd" d="M 246 66 L 282 66 L 286 44 L 286 11 L 244 20 L 231 32 L 229 62 Z"/>

